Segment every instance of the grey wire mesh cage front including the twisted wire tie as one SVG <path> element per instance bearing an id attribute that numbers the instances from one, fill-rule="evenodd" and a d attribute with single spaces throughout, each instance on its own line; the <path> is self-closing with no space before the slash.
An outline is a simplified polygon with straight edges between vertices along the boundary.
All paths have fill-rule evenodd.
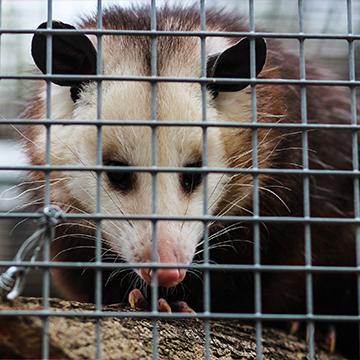
<path id="1" fill-rule="evenodd" d="M 241 4 L 247 7 L 248 13 L 248 30 L 243 32 L 233 31 L 221 31 L 214 32 L 207 30 L 207 16 L 206 16 L 206 1 L 199 0 L 197 2 L 200 29 L 197 31 L 163 31 L 157 27 L 157 12 L 158 4 L 156 0 L 149 0 L 149 18 L 150 28 L 148 30 L 118 30 L 118 29 L 106 29 L 103 26 L 102 14 L 104 11 L 103 1 L 97 0 L 97 15 L 96 15 L 96 28 L 92 29 L 54 29 L 53 24 L 53 1 L 44 0 L 47 6 L 47 20 L 44 28 L 40 29 L 10 29 L 1 26 L 0 23 L 0 35 L 2 38 L 5 36 L 11 36 L 16 34 L 44 34 L 46 35 L 46 71 L 45 74 L 39 73 L 21 73 L 21 74 L 2 74 L 0 73 L 1 81 L 13 81 L 13 80 L 26 80 L 28 82 L 43 80 L 46 83 L 46 116 L 43 119 L 33 118 L 1 118 L 0 124 L 2 126 L 13 126 L 13 127 L 27 127 L 37 126 L 45 128 L 46 140 L 45 140 L 45 153 L 44 162 L 37 165 L 1 165 L 0 166 L 0 178 L 1 173 L 13 172 L 13 171 L 26 171 L 26 172 L 41 172 L 44 174 L 44 197 L 43 202 L 36 211 L 23 211 L 19 208 L 15 208 L 15 211 L 2 211 L 0 213 L 0 220 L 7 221 L 9 219 L 16 219 L 17 221 L 23 221 L 24 219 L 32 219 L 37 221 L 37 228 L 33 234 L 23 242 L 22 247 L 19 249 L 17 255 L 13 260 L 6 259 L 0 261 L 0 266 L 4 268 L 4 273 L 1 277 L 0 285 L 2 287 L 3 301 L 9 301 L 17 297 L 22 290 L 23 282 L 26 280 L 26 275 L 32 272 L 34 269 L 40 269 L 42 273 L 42 289 L 39 294 L 42 298 L 42 308 L 40 310 L 17 310 L 8 309 L 0 311 L 0 319 L 5 317 L 23 316 L 30 317 L 36 316 L 42 319 L 43 331 L 42 331 L 42 358 L 47 359 L 50 356 L 49 349 L 49 321 L 52 317 L 88 317 L 96 319 L 96 351 L 93 354 L 94 358 L 102 358 L 102 320 L 105 318 L 141 318 L 150 319 L 152 321 L 152 358 L 158 358 L 159 349 L 159 331 L 158 322 L 162 319 L 187 319 L 197 318 L 203 322 L 204 326 L 204 353 L 205 359 L 211 358 L 211 322 L 219 319 L 225 320 L 239 320 L 244 322 L 250 322 L 255 325 L 256 330 L 256 357 L 258 359 L 263 358 L 263 343 L 262 333 L 263 326 L 266 323 L 273 322 L 301 322 L 306 324 L 307 332 L 307 353 L 310 359 L 316 357 L 316 341 L 315 334 L 316 328 L 321 327 L 322 324 L 336 323 L 355 323 L 359 324 L 360 318 L 358 312 L 354 314 L 333 314 L 327 313 L 326 309 L 323 313 L 317 313 L 314 311 L 314 289 L 313 279 L 317 275 L 329 275 L 340 274 L 346 275 L 351 274 L 357 277 L 358 290 L 360 289 L 360 194 L 359 194 L 359 158 L 358 158 L 358 130 L 359 125 L 357 121 L 357 87 L 359 81 L 356 78 L 356 42 L 360 40 L 360 35 L 356 33 L 353 21 L 353 8 L 358 5 L 357 1 L 344 0 L 342 4 L 346 9 L 347 26 L 346 31 L 340 34 L 322 34 L 316 32 L 305 32 L 304 29 L 304 9 L 306 6 L 306 0 L 295 1 L 297 5 L 297 21 L 298 31 L 292 32 L 265 32 L 259 31 L 255 22 L 255 13 L 258 2 L 255 0 L 246 0 Z M 0 0 L 0 14 L 4 0 Z M 246 3 L 246 4 L 245 4 Z M 331 3 L 331 2 L 329 2 Z M 334 3 L 339 3 L 335 2 Z M 245 5 L 244 5 L 245 4 Z M 1 19 L 1 16 L 0 16 Z M 266 27 L 265 27 L 266 29 Z M 76 34 L 87 34 L 89 36 L 96 37 L 97 47 L 97 70 L 96 75 L 79 76 L 79 75 L 54 75 L 51 73 L 52 69 L 52 45 L 53 37 L 61 34 L 69 34 L 69 36 L 75 36 Z M 122 37 L 149 37 L 151 43 L 151 71 L 147 76 L 134 76 L 128 74 L 126 76 L 118 75 L 104 75 L 102 72 L 103 64 L 103 39 L 106 36 L 122 36 Z M 188 77 L 188 76 L 159 76 L 157 72 L 157 58 L 158 51 L 157 45 L 158 40 L 161 37 L 196 37 L 200 39 L 201 51 L 201 74 L 199 77 Z M 250 79 L 221 79 L 223 83 L 236 84 L 241 82 L 249 83 L 250 88 L 250 99 L 251 99 L 251 113 L 247 121 L 233 122 L 233 121 L 222 121 L 221 123 L 208 119 L 208 97 L 210 96 L 207 90 L 208 84 L 219 81 L 208 76 L 207 73 L 207 58 L 206 58 L 206 44 L 207 40 L 211 37 L 217 38 L 242 38 L 248 37 L 250 43 Z M 296 70 L 298 75 L 296 78 L 272 78 L 264 79 L 256 77 L 256 39 L 265 38 L 271 41 L 271 39 L 282 39 L 284 41 L 292 40 L 298 43 L 298 65 Z M 0 38 L 1 39 L 1 38 Z M 305 45 L 307 42 L 312 40 L 321 41 L 343 41 L 347 43 L 347 64 L 344 69 L 344 73 L 347 73 L 347 77 L 344 80 L 331 80 L 328 78 L 310 78 L 307 76 L 306 68 L 306 55 Z M 1 49 L 1 43 L 0 43 Z M 6 57 L 6 54 L 2 58 Z M 345 61 L 345 60 L 344 60 Z M 90 120 L 83 118 L 81 120 L 74 119 L 54 119 L 52 115 L 52 102 L 51 94 L 54 91 L 52 80 L 57 78 L 65 78 L 70 80 L 83 80 L 93 81 L 96 83 L 96 120 Z M 106 82 L 145 82 L 151 86 L 151 120 L 137 119 L 134 121 L 126 119 L 108 120 L 103 117 L 103 109 L 101 104 L 102 99 L 105 96 L 103 92 L 103 84 Z M 187 119 L 179 119 L 180 121 L 158 119 L 157 113 L 157 94 L 158 87 L 161 83 L 197 83 L 201 86 L 201 121 L 187 122 Z M 259 122 L 257 105 L 259 99 L 257 97 L 257 89 L 262 85 L 272 85 L 274 87 L 285 86 L 298 87 L 300 94 L 300 118 L 295 123 L 286 123 L 277 121 Z M 346 124 L 336 123 L 316 123 L 309 122 L 308 120 L 308 88 L 311 86 L 328 87 L 343 87 L 347 88 L 350 111 L 349 119 Z M 116 101 L 116 100 L 115 100 Z M 96 159 L 95 165 L 84 166 L 84 165 L 53 165 L 51 162 L 51 138 L 52 128 L 54 126 L 91 126 L 96 128 Z M 151 165 L 150 166 L 128 166 L 126 172 L 134 173 L 147 173 L 151 176 L 151 213 L 150 214 L 126 214 L 126 213 L 108 213 L 103 211 L 102 207 L 102 181 L 104 173 L 109 171 L 121 172 L 124 169 L 114 168 L 111 165 L 103 163 L 103 130 L 107 126 L 116 127 L 148 127 L 151 131 Z M 200 128 L 202 131 L 202 162 L 201 167 L 162 167 L 157 163 L 157 135 L 160 128 L 171 128 L 171 127 L 191 127 Z M 251 131 L 251 165 L 245 167 L 211 167 L 208 166 L 207 154 L 208 149 L 208 132 L 209 129 L 213 128 L 233 128 L 233 129 L 246 129 Z M 259 164 L 259 132 L 262 130 L 284 130 L 289 132 L 296 132 L 301 138 L 301 154 L 302 154 L 302 166 L 299 168 L 287 168 L 287 167 L 263 167 Z M 319 130 L 326 130 L 328 132 L 346 132 L 351 133 L 352 139 L 352 169 L 316 169 L 309 166 L 309 153 L 312 149 L 309 147 L 309 133 L 316 132 Z M 292 151 L 289 149 L 288 151 Z M 329 149 L 331 151 L 331 149 Z M 334 155 L 335 156 L 335 155 Z M 96 177 L 96 192 L 94 194 L 96 199 L 96 208 L 90 213 L 77 213 L 77 212 L 66 212 L 56 203 L 51 201 L 51 174 L 57 171 L 67 172 L 92 172 Z M 158 175 L 161 173 L 200 173 L 203 181 L 203 203 L 202 203 L 202 214 L 196 216 L 187 215 L 167 215 L 159 214 L 158 208 Z M 219 174 L 230 174 L 230 176 L 244 174 L 250 175 L 251 181 L 251 199 L 250 205 L 251 212 L 244 213 L 241 216 L 234 215 L 223 215 L 221 217 L 216 214 L 209 213 L 209 194 L 208 194 L 208 176 L 212 173 Z M 293 177 L 302 179 L 302 188 L 298 189 L 302 196 L 302 214 L 299 216 L 293 216 L 291 213 L 285 216 L 278 216 L 277 213 L 271 215 L 263 215 L 260 204 L 260 193 L 262 191 L 261 176 L 274 176 L 276 175 L 288 175 L 291 174 Z M 80 175 L 82 176 L 82 175 Z M 353 214 L 347 216 L 346 214 L 338 216 L 313 216 L 311 208 L 311 184 L 317 177 L 328 178 L 328 181 L 334 181 L 337 177 L 350 177 L 353 182 Z M 55 228 L 59 222 L 66 221 L 78 221 L 85 219 L 91 221 L 96 225 L 96 241 L 94 249 L 94 261 L 57 261 L 52 260 L 50 256 L 50 244 L 55 239 Z M 104 221 L 150 221 L 152 224 L 152 262 L 150 263 L 125 263 L 125 262 L 104 262 L 102 253 L 102 223 Z M 159 264 L 157 260 L 157 242 L 158 242 L 158 222 L 163 221 L 199 221 L 204 224 L 204 233 L 202 237 L 203 241 L 203 259 L 201 263 L 193 263 L 190 265 L 174 265 L 174 264 Z M 210 250 L 211 250 L 211 234 L 209 233 L 209 224 L 218 221 L 224 223 L 238 224 L 247 223 L 251 224 L 252 227 L 252 239 L 251 246 L 253 247 L 253 261 L 251 263 L 234 264 L 231 261 L 229 263 L 214 264 L 211 261 Z M 262 244 L 261 238 L 261 226 L 262 224 L 301 224 L 303 227 L 303 250 L 301 255 L 303 260 L 301 263 L 293 263 L 281 265 L 277 263 L 266 263 L 262 262 L 261 250 L 264 244 Z M 347 224 L 355 228 L 354 237 L 356 242 L 356 261 L 353 265 L 333 264 L 333 265 L 314 265 L 312 257 L 312 228 L 316 227 L 317 224 Z M 291 236 L 291 234 L 288 234 Z M 53 311 L 50 309 L 50 270 L 54 268 L 74 268 L 74 269 L 92 269 L 95 274 L 95 287 L 94 287 L 94 303 L 95 308 L 93 311 L 83 311 L 79 313 L 74 310 L 57 310 Z M 185 268 L 194 269 L 199 271 L 203 277 L 202 294 L 203 297 L 203 309 L 198 311 L 196 314 L 193 313 L 164 313 L 158 311 L 158 300 L 161 294 L 159 293 L 157 277 L 153 277 L 151 281 L 151 292 L 150 292 L 150 309 L 138 312 L 126 312 L 126 311 L 103 311 L 103 292 L 106 291 L 104 287 L 104 279 L 102 272 L 107 270 L 119 270 L 119 269 L 141 269 L 150 268 L 154 272 L 163 268 Z M 7 269 L 7 270 L 6 270 Z M 253 277 L 253 291 L 254 291 L 254 304 L 252 312 L 242 311 L 231 311 L 231 312 L 215 312 L 212 309 L 212 292 L 211 292 L 211 277 L 214 272 L 222 272 L 224 276 L 224 282 L 226 282 L 226 274 L 228 272 L 246 272 L 251 273 Z M 287 313 L 265 313 L 263 311 L 262 299 L 262 279 L 266 274 L 272 273 L 301 273 L 304 276 L 304 290 L 306 299 L 306 309 L 303 313 L 293 313 L 291 311 Z M 25 280 L 24 280 L 25 279 Z M 105 289 L 105 290 L 104 290 Z M 275 294 L 273 294 L 275 296 Z M 272 296 L 272 294 L 267 294 Z M 360 307 L 360 296 L 357 296 L 357 308 Z M 1 332 L 1 330 L 0 330 Z"/>

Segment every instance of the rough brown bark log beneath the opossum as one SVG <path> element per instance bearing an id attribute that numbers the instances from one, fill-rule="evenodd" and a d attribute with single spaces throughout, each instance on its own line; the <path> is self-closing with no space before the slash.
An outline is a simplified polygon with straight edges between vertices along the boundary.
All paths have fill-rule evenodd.
<path id="1" fill-rule="evenodd" d="M 52 311 L 75 310 L 79 317 L 50 317 L 49 349 L 52 359 L 95 359 L 96 341 L 93 318 L 81 312 L 94 310 L 92 304 L 52 299 Z M 1 316 L 6 310 L 41 310 L 41 299 L 20 298 L 0 303 L 0 357 L 41 358 L 43 321 L 36 316 Z M 127 311 L 123 305 L 104 307 L 104 311 Z M 131 310 L 129 310 L 131 311 Z M 159 324 L 159 359 L 204 359 L 204 330 L 201 320 L 161 320 Z M 151 359 L 152 323 L 146 319 L 104 318 L 101 321 L 103 359 Z M 211 359 L 255 359 L 255 330 L 237 321 L 211 322 Z M 263 330 L 265 359 L 306 359 L 304 341 L 273 329 Z M 322 350 L 318 359 L 343 359 Z"/>

